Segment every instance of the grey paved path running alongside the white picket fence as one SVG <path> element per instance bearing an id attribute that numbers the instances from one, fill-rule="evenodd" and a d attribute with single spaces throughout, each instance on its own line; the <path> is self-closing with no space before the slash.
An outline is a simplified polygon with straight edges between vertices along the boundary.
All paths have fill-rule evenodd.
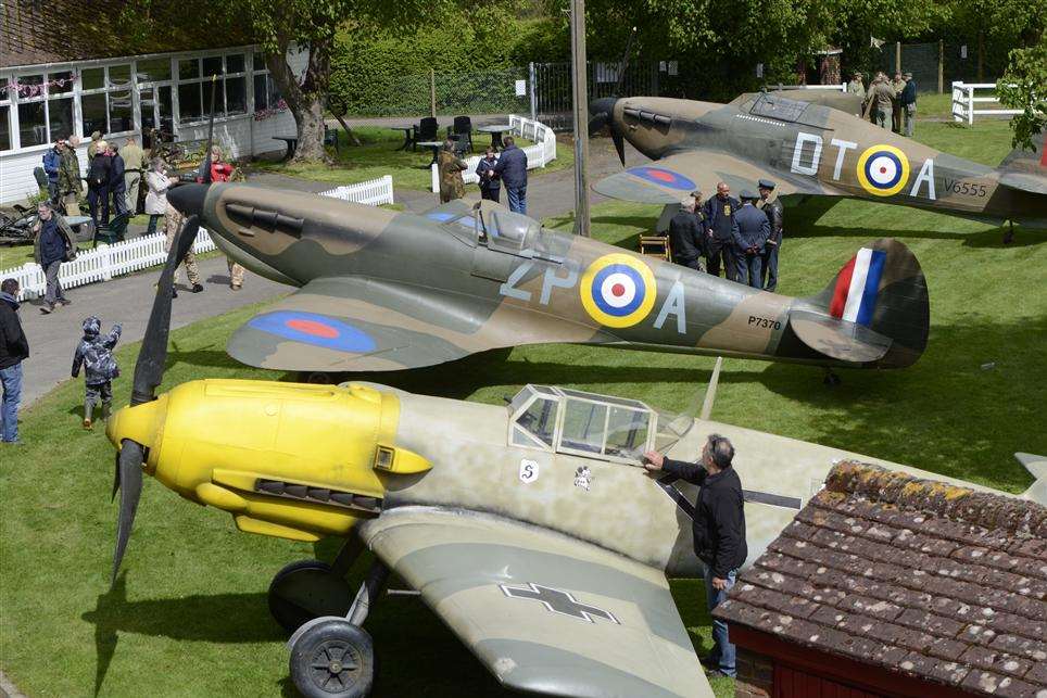
<path id="1" fill-rule="evenodd" d="M 569 148 L 570 145 L 565 143 L 559 147 Z M 620 167 L 608 139 L 593 141 L 590 160 L 590 181 L 596 181 L 600 177 L 609 175 Z M 630 165 L 639 164 L 642 160 L 645 160 L 643 155 L 629 151 Z M 531 170 L 527 190 L 528 214 L 541 220 L 572 211 L 575 207 L 573 169 L 539 173 L 540 170 Z M 252 176 L 251 181 L 278 189 L 313 192 L 326 191 L 332 186 L 330 182 L 307 181 L 274 173 Z M 475 195 L 472 188 L 469 189 L 470 195 Z M 440 203 L 437 194 L 425 191 L 396 190 L 395 198 L 413 213 L 427 211 Z M 604 198 L 600 194 L 590 192 L 592 203 L 603 200 Z M 199 265 L 205 291 L 197 294 L 188 291 L 179 292 L 172 309 L 173 328 L 228 313 L 244 305 L 269 301 L 291 290 L 249 271 L 243 288 L 240 291 L 231 291 L 224 258 L 204 259 L 199 262 Z M 160 267 L 155 267 L 105 283 L 71 289 L 66 295 L 73 304 L 47 316 L 40 314 L 37 302 L 23 304 L 21 317 L 31 353 L 24 364 L 23 406 L 30 405 L 70 377 L 73 351 L 80 338 L 80 322 L 89 315 L 97 315 L 102 319 L 104 331 L 109 331 L 113 322 L 123 322 L 122 342 L 141 340 L 155 295 L 153 283 L 159 277 Z M 133 368 L 124 366 L 123 370 L 126 372 Z"/>

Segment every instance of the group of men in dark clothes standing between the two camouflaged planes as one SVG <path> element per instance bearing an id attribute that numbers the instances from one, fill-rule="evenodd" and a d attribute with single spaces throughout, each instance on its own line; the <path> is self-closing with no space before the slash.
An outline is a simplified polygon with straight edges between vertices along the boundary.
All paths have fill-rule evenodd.
<path id="1" fill-rule="evenodd" d="M 774 188 L 773 181 L 760 179 L 759 193 L 743 190 L 739 200 L 721 181 L 704 204 L 702 192 L 692 192 L 669 221 L 672 261 L 714 276 L 722 268 L 732 281 L 773 292 L 785 220 Z"/>

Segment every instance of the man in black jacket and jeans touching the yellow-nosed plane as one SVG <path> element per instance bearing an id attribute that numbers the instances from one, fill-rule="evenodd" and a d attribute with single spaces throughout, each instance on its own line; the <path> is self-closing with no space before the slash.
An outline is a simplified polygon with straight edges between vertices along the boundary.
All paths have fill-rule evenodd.
<path id="1" fill-rule="evenodd" d="M 701 487 L 692 528 L 694 554 L 705 562 L 706 600 L 711 611 L 734 586 L 739 568 L 745 562 L 745 509 L 742 481 L 731 461 L 734 446 L 719 434 L 709 434 L 699 462 L 670 460 L 657 452 L 644 454 L 644 467 L 665 472 Z M 714 675 L 734 676 L 734 645 L 727 623 L 712 621 L 712 651 L 703 662 Z"/>

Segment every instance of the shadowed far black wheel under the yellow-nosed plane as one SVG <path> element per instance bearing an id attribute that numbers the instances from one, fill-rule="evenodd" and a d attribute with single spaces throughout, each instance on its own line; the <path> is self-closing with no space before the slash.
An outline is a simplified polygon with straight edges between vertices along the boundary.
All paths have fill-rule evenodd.
<path id="1" fill-rule="evenodd" d="M 353 604 L 345 579 L 319 560 L 291 562 L 269 583 L 269 613 L 288 632 L 321 615 L 342 615 Z"/>

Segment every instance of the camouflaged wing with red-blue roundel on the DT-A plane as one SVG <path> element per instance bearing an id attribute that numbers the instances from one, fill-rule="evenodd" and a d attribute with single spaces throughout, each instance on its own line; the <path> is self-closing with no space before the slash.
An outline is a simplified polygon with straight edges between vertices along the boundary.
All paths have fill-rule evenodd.
<path id="1" fill-rule="evenodd" d="M 782 173 L 736 155 L 706 149 L 689 150 L 647 165 L 630 167 L 601 179 L 593 189 L 613 199 L 674 204 L 695 189 L 701 189 L 705 198 L 711 196 L 720 181 L 730 185 L 735 196 L 743 189 L 755 192 L 756 181 L 760 178 L 773 181 L 779 196 L 838 193 L 811 177 Z"/>

